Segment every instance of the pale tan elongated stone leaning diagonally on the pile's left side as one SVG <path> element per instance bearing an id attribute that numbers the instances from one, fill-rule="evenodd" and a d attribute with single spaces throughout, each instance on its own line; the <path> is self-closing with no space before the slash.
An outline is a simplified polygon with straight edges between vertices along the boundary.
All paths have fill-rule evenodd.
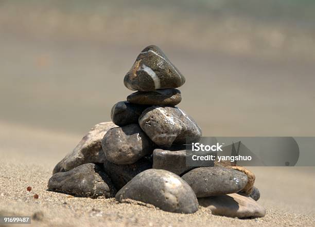
<path id="1" fill-rule="evenodd" d="M 101 145 L 102 139 L 110 128 L 116 126 L 113 122 L 101 122 L 94 125 L 74 150 L 55 166 L 53 174 L 69 171 L 85 163 L 103 163 L 105 155 Z"/>

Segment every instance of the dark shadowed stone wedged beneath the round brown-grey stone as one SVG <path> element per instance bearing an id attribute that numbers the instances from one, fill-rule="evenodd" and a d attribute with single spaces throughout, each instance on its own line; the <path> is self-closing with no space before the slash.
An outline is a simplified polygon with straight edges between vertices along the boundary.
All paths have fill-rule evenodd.
<path id="1" fill-rule="evenodd" d="M 152 168 L 152 162 L 147 157 L 129 165 L 117 165 L 107 160 L 104 161 L 104 171 L 110 176 L 117 190 L 127 184 L 137 174 L 149 168 Z"/>

